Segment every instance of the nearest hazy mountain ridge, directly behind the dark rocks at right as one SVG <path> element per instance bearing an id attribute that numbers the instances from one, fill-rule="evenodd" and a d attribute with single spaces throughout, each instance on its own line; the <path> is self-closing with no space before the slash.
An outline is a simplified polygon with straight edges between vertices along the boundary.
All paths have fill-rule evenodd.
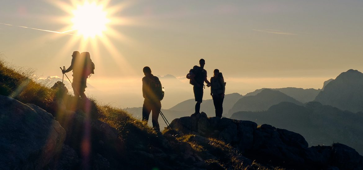
<path id="1" fill-rule="evenodd" d="M 344 143 L 363 153 L 363 112 L 342 111 L 319 102 L 305 106 L 290 102 L 273 105 L 262 112 L 236 112 L 231 119 L 270 124 L 302 134 L 309 145 Z"/>

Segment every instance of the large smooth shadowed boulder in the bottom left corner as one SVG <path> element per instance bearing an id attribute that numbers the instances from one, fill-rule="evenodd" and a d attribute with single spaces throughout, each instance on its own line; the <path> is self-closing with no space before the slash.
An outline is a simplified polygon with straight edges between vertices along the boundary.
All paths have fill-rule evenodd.
<path id="1" fill-rule="evenodd" d="M 65 136 L 50 113 L 0 95 L 0 169 L 42 169 L 59 157 Z"/>

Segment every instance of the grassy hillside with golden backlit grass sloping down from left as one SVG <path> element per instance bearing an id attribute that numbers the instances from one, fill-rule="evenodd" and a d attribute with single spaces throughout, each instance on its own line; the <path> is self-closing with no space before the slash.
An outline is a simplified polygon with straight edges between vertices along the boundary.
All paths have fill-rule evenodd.
<path id="1" fill-rule="evenodd" d="M 217 139 L 198 145 L 188 140 L 191 134 L 156 133 L 126 111 L 47 88 L 31 71 L 13 68 L 0 59 L 0 95 L 45 109 L 66 130 L 60 160 L 50 169 L 277 169 L 246 164 L 238 150 Z"/>

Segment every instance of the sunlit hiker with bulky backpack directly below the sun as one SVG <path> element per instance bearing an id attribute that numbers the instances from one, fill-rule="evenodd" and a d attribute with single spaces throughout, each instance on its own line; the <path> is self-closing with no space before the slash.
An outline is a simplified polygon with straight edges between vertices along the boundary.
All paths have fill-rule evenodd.
<path id="1" fill-rule="evenodd" d="M 86 99 L 86 87 L 87 78 L 94 74 L 94 63 L 91 60 L 89 52 L 82 52 L 79 54 L 78 51 L 73 51 L 72 62 L 68 69 L 62 70 L 62 73 L 71 71 L 73 72 L 72 88 L 74 96 Z"/>

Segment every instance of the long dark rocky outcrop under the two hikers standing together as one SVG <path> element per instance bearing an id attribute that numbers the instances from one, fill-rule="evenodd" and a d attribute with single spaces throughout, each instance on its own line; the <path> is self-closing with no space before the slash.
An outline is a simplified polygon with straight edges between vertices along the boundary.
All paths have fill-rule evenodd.
<path id="1" fill-rule="evenodd" d="M 363 169 L 363 157 L 354 149 L 343 145 L 313 146 L 303 136 L 271 125 L 228 118 L 181 117 L 171 122 L 179 133 L 219 138 L 242 152 L 246 158 L 293 169 Z M 195 140 L 205 143 L 205 140 Z"/>

